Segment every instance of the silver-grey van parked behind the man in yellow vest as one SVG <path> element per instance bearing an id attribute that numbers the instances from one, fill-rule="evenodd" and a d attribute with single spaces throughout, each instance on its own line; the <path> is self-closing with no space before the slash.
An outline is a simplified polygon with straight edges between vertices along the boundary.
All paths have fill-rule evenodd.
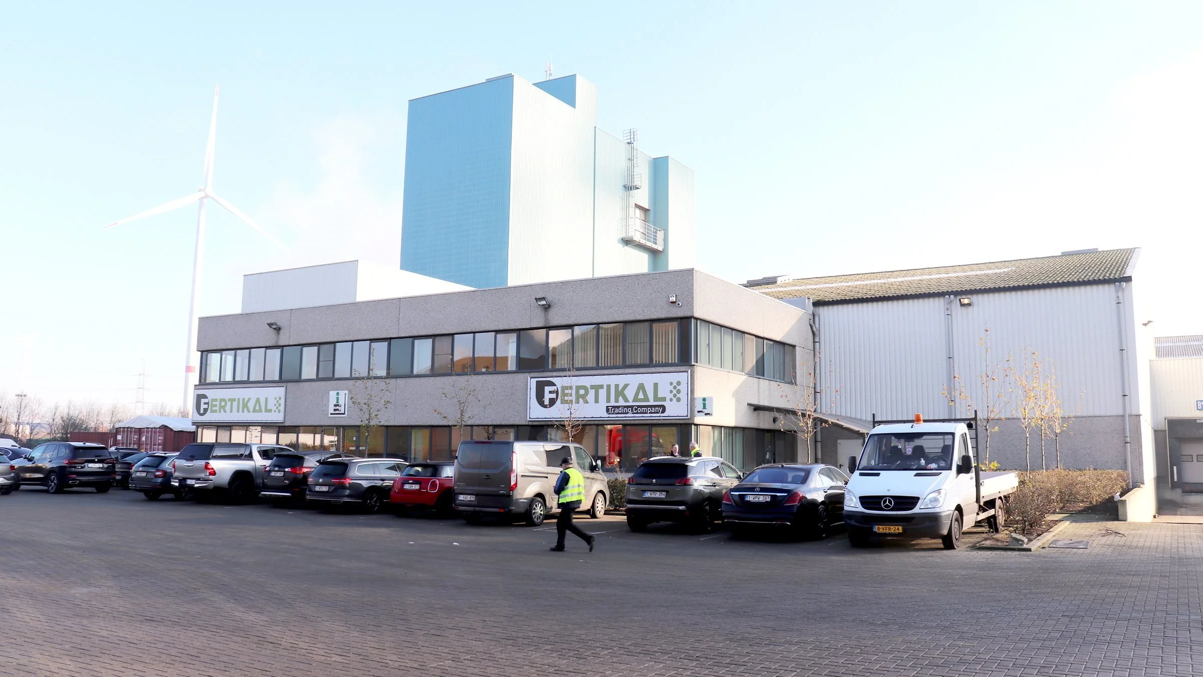
<path id="1" fill-rule="evenodd" d="M 460 443 L 455 459 L 455 509 L 468 522 L 493 515 L 522 517 L 538 527 L 558 510 L 555 492 L 559 462 L 569 457 L 585 476 L 581 507 L 605 515 L 610 488 L 585 447 L 567 443 L 476 440 Z"/>

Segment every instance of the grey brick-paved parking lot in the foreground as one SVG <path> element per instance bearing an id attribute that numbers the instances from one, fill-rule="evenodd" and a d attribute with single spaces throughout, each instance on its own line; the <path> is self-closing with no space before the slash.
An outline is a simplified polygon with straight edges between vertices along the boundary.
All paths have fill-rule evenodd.
<path id="1" fill-rule="evenodd" d="M 0 497 L 0 675 L 1198 675 L 1203 525 L 1089 550 Z"/>

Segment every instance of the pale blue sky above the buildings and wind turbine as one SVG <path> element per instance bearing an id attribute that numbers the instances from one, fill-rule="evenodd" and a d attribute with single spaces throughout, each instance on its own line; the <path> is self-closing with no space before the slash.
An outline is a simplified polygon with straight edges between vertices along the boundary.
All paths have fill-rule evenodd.
<path id="1" fill-rule="evenodd" d="M 1142 247 L 1145 319 L 1203 333 L 1203 2 L 22 4 L 0 23 L 0 391 L 176 403 L 248 272 L 398 260 L 407 100 L 580 73 L 600 125 L 698 176 L 742 281 Z M 348 7 L 352 8 L 348 8 Z M 624 11 L 626 8 L 626 11 Z"/>

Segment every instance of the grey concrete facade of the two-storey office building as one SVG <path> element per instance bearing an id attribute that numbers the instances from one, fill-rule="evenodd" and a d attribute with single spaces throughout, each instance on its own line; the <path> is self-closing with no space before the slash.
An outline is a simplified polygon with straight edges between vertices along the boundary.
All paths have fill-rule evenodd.
<path id="1" fill-rule="evenodd" d="M 675 303 L 669 302 L 670 296 L 675 296 Z M 537 297 L 546 298 L 550 308 L 537 305 Z M 800 380 L 811 373 L 806 367 L 813 355 L 808 313 L 693 269 L 202 317 L 197 345 L 203 352 L 691 317 L 794 345 L 798 349 L 794 351 L 794 373 L 799 374 Z M 279 325 L 280 329 L 269 328 L 268 322 Z M 681 350 L 688 349 L 681 346 Z M 688 372 L 693 390 L 689 396 L 715 398 L 712 416 L 697 420 L 693 416 L 685 420 L 639 420 L 642 424 L 664 422 L 780 429 L 780 423 L 774 423 L 771 414 L 753 411 L 749 405 L 781 405 L 795 400 L 799 393 L 811 387 L 810 382 L 784 384 L 693 364 L 687 357 L 691 354 L 683 355 L 683 363 L 677 364 L 597 368 L 576 373 L 600 375 Z M 374 387 L 378 388 L 380 399 L 391 402 L 380 424 L 448 424 L 446 418 L 437 410 L 446 409 L 448 394 L 468 380 L 484 404 L 474 414 L 473 424 L 527 424 L 528 379 L 543 373 L 545 372 L 488 372 L 373 379 L 378 381 Z M 202 384 L 200 387 L 284 386 L 284 426 L 355 426 L 362 422 L 358 412 L 351 410 L 348 416 L 336 420 L 327 415 L 326 409 L 328 392 L 345 390 L 354 381 L 324 379 L 223 382 Z"/>

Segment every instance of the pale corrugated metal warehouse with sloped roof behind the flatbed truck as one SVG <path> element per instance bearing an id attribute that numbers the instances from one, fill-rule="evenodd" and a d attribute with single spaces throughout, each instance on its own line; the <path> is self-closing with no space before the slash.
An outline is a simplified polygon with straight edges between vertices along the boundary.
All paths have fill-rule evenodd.
<path id="1" fill-rule="evenodd" d="M 1063 416 L 1059 440 L 1031 432 L 1033 468 L 1128 469 L 1156 476 L 1148 414 L 1151 340 L 1137 326 L 1137 249 L 808 279 L 748 286 L 813 307 L 819 409 L 860 426 L 828 427 L 822 459 L 847 465 L 847 428 L 873 417 L 966 416 L 997 409 L 989 457 L 1025 468 L 1025 370 L 1043 364 Z M 1026 367 L 1025 367 L 1026 366 Z M 991 384 L 983 386 L 983 378 Z M 991 403 L 994 406 L 991 406 Z M 1127 426 L 1125 426 L 1127 414 Z M 1051 433 L 1050 433 L 1051 434 Z M 983 434 L 984 438 L 984 434 Z M 1054 450 L 1059 446 L 1060 452 Z"/>

